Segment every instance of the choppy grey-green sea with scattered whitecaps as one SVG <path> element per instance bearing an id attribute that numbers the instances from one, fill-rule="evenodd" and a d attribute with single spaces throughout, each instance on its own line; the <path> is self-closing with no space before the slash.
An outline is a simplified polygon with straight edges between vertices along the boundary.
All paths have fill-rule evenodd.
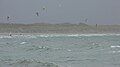
<path id="1" fill-rule="evenodd" d="M 120 67 L 120 34 L 0 35 L 0 67 Z"/>

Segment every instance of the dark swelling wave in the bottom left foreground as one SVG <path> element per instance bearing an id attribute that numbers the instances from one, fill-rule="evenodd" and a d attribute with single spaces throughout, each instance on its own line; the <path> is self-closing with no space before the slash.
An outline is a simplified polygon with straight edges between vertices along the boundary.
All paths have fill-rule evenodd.
<path id="1" fill-rule="evenodd" d="M 57 64 L 51 62 L 41 62 L 35 59 L 18 59 L 12 61 L 1 61 L 3 67 L 58 67 Z"/>

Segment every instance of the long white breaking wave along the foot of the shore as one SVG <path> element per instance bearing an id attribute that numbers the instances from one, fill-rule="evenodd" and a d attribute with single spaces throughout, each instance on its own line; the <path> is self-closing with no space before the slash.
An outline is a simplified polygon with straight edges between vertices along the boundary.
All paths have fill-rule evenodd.
<path id="1" fill-rule="evenodd" d="M 0 38 L 37 38 L 37 37 L 78 37 L 78 36 L 120 36 L 120 34 L 25 34 L 25 35 L 0 35 Z"/>

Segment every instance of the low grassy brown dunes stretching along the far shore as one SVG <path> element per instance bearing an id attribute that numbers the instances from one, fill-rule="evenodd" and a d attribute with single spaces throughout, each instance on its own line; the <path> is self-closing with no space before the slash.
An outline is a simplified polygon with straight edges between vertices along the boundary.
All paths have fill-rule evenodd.
<path id="1" fill-rule="evenodd" d="M 120 25 L 80 24 L 8 24 L 0 23 L 0 35 L 8 34 L 120 34 Z"/>

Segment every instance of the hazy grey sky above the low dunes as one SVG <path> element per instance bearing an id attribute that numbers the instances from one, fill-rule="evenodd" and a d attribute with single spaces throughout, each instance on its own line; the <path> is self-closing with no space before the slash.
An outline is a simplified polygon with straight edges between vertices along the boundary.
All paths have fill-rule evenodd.
<path id="1" fill-rule="evenodd" d="M 120 0 L 0 0 L 0 23 L 9 22 L 120 24 Z"/>

